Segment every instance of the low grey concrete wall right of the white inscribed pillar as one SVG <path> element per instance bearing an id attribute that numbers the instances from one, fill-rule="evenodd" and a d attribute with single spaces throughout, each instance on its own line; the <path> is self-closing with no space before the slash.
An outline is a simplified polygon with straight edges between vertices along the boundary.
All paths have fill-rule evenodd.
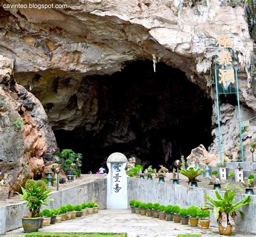
<path id="1" fill-rule="evenodd" d="M 137 178 L 128 178 L 127 181 L 128 201 L 135 199 L 143 202 L 159 202 L 163 205 L 178 205 L 187 208 L 191 205 L 204 205 L 205 194 L 209 194 L 215 198 L 215 192 L 213 190 L 207 190 L 200 187 L 184 187 Z M 224 194 L 223 191 L 220 193 L 222 195 Z M 245 194 L 238 194 L 235 198 L 235 202 L 244 197 L 246 197 Z M 238 213 L 235 221 L 237 231 L 256 233 L 256 195 L 251 196 L 251 198 L 252 203 L 250 205 L 240 208 L 241 211 L 245 213 L 245 218 L 244 220 L 241 220 L 241 216 Z M 211 226 L 218 226 L 213 212 L 211 212 Z"/>

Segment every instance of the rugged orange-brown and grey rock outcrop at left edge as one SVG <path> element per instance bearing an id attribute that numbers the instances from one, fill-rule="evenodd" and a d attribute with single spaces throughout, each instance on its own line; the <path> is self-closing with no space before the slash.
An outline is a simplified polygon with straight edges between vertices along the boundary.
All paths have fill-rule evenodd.
<path id="1" fill-rule="evenodd" d="M 45 123 L 47 126 L 47 119 Z M 19 189 L 18 184 L 24 184 L 29 178 L 40 177 L 43 173 L 43 155 L 48 151 L 48 146 L 45 143 L 47 137 L 40 130 L 44 128 L 38 128 L 19 98 L 11 59 L 0 56 L 0 169 L 5 173 L 11 192 Z M 49 148 L 49 152 L 52 148 Z"/>

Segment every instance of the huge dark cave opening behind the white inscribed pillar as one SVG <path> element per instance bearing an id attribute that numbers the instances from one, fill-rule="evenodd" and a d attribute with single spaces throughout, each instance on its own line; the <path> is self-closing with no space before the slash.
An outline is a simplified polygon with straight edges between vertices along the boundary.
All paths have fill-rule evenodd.
<path id="1" fill-rule="evenodd" d="M 158 63 L 154 72 L 151 61 L 139 60 L 83 80 L 96 91 L 97 128 L 88 130 L 87 118 L 72 131 L 54 131 L 60 149 L 83 154 L 82 172 L 95 173 L 113 152 L 171 168 L 181 155 L 212 143 L 212 100 L 178 69 Z"/>

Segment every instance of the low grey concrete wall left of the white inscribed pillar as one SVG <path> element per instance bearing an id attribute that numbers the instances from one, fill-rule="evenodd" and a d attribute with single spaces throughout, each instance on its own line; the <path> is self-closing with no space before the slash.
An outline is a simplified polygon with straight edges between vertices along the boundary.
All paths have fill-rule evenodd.
<path id="1" fill-rule="evenodd" d="M 106 209 L 106 179 L 87 182 L 86 184 L 73 186 L 59 192 L 53 192 L 49 207 L 58 208 L 62 205 L 78 205 L 83 202 L 96 202 L 100 209 Z M 22 227 L 22 216 L 28 216 L 28 208 L 25 202 L 0 207 L 0 234 Z"/>

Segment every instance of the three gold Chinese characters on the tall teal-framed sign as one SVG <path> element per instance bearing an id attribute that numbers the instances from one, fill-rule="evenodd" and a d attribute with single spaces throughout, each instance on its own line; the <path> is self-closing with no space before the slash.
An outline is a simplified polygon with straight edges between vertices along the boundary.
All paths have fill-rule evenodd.
<path id="1" fill-rule="evenodd" d="M 216 37 L 218 47 L 215 56 L 215 70 L 218 82 L 218 93 L 236 93 L 234 72 L 234 45 L 231 34 Z"/>

